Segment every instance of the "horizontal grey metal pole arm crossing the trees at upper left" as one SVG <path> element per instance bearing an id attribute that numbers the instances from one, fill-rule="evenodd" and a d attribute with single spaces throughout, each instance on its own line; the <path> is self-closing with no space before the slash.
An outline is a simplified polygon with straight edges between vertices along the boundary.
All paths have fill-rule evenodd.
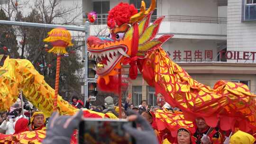
<path id="1" fill-rule="evenodd" d="M 82 32 L 84 32 L 84 27 L 78 27 L 78 26 L 40 24 L 40 23 L 29 23 L 29 22 L 8 21 L 8 20 L 0 20 L 0 24 L 2 24 L 2 25 L 13 25 L 13 26 L 27 26 L 27 27 L 45 27 L 45 28 L 64 27 L 67 30 L 82 31 Z"/>

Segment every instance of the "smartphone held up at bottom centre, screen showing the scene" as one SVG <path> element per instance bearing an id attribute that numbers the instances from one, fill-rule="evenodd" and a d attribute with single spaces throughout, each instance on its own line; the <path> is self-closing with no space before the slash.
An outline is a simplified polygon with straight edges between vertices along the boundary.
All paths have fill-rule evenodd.
<path id="1" fill-rule="evenodd" d="M 79 124 L 79 144 L 136 144 L 124 124 L 135 126 L 126 120 L 85 118 Z"/>

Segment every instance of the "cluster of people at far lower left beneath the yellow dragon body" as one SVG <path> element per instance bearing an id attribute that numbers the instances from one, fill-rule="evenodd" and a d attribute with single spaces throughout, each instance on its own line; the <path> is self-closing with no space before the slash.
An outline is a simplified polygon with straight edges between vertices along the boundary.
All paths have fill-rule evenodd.
<path id="1" fill-rule="evenodd" d="M 22 108 L 23 107 L 23 112 Z M 46 129 L 46 117 L 32 104 L 26 102 L 23 106 L 20 99 L 9 111 L 0 112 L 0 133 L 5 135 L 18 134 L 24 131 Z"/>

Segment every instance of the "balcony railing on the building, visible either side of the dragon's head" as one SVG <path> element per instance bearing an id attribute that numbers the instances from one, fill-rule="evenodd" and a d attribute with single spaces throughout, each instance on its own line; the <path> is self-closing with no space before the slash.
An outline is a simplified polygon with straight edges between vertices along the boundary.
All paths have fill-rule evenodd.
<path id="1" fill-rule="evenodd" d="M 108 14 L 98 14 L 98 18 L 92 25 L 106 25 Z M 161 16 L 152 16 L 151 22 Z M 88 20 L 84 18 L 84 20 Z M 179 22 L 195 22 L 195 23 L 227 23 L 227 18 L 223 17 L 202 17 L 202 16 L 181 16 L 181 15 L 166 15 L 164 21 L 179 21 Z"/>

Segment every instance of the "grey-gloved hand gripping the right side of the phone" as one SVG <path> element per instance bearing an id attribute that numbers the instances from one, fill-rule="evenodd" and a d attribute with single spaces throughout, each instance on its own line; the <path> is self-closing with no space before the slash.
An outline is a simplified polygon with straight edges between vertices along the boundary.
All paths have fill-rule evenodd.
<path id="1" fill-rule="evenodd" d="M 131 110 L 128 110 L 128 115 L 130 115 L 128 116 L 128 120 L 135 121 L 143 130 L 138 130 L 129 125 L 123 126 L 124 129 L 135 138 L 137 144 L 158 144 L 155 132 L 145 118 Z"/>

